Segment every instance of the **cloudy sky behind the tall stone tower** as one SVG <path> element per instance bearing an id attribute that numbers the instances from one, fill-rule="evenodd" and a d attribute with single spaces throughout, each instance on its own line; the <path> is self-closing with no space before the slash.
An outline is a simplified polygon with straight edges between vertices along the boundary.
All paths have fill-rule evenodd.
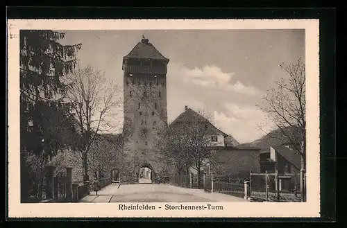
<path id="1" fill-rule="evenodd" d="M 267 121 L 255 107 L 276 80 L 280 64 L 305 60 L 305 30 L 66 30 L 61 44 L 82 44 L 77 58 L 123 85 L 122 58 L 144 35 L 169 58 L 169 121 L 185 105 L 205 109 L 217 128 L 239 143 L 254 141 Z M 123 116 L 115 116 L 122 123 Z M 269 123 L 268 128 L 271 128 Z"/>

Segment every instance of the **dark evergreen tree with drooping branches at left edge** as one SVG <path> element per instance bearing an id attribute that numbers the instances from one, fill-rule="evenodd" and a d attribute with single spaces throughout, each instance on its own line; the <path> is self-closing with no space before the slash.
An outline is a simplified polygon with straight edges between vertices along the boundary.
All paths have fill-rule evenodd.
<path id="1" fill-rule="evenodd" d="M 28 157 L 40 157 L 42 166 L 63 148 L 77 146 L 63 82 L 76 66 L 76 51 L 81 44 L 63 46 L 65 33 L 52 30 L 20 32 L 20 131 L 21 199 L 37 197 L 42 174 L 31 173 Z M 42 173 L 42 172 L 41 172 Z M 38 189 L 40 198 L 40 191 Z"/>

